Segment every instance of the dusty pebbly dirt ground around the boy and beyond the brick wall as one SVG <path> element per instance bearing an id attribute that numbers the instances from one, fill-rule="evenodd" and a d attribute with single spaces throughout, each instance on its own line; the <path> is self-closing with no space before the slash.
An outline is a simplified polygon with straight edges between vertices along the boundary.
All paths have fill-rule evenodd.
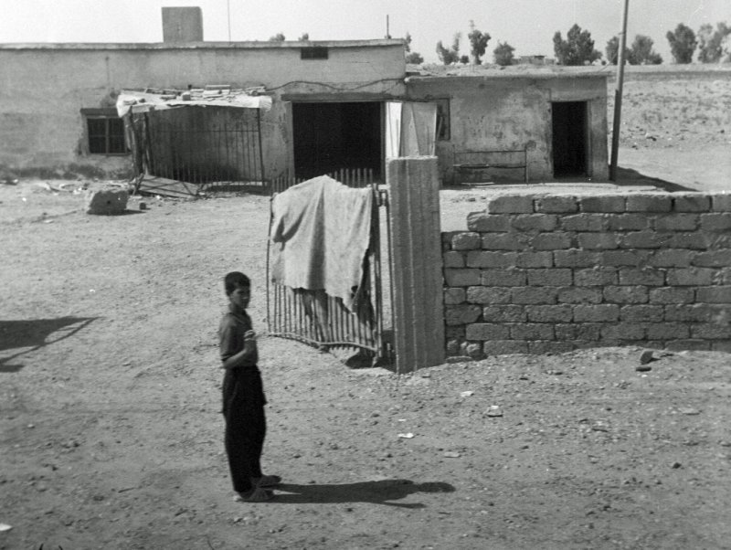
<path id="1" fill-rule="evenodd" d="M 684 76 L 628 81 L 628 128 L 662 112 L 673 140 L 628 130 L 621 185 L 731 190 L 716 80 L 713 109 Z M 731 548 L 728 354 L 351 369 L 266 334 L 268 198 L 92 217 L 61 184 L 0 185 L 0 549 Z M 444 192 L 443 227 L 483 193 Z M 232 502 L 223 453 L 228 270 L 254 281 L 265 471 L 285 481 L 262 504 Z"/>

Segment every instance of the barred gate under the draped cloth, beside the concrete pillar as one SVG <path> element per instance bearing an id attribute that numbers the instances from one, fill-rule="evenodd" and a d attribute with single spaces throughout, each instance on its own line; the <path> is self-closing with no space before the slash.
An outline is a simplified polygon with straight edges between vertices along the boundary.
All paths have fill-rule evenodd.
<path id="1" fill-rule="evenodd" d="M 390 307 L 384 307 L 384 287 L 391 296 L 388 249 L 382 249 L 381 225 L 387 227 L 388 204 L 385 191 L 374 183 L 371 170 L 341 170 L 330 175 L 349 187 L 368 187 L 373 193 L 371 208 L 370 244 L 366 253 L 361 296 L 355 312 L 345 307 L 340 298 L 324 291 L 292 289 L 271 280 L 271 217 L 267 245 L 267 324 L 272 336 L 290 338 L 310 344 L 323 351 L 337 348 L 353 348 L 367 357 L 372 365 L 390 362 L 392 345 L 390 333 Z M 271 182 L 271 197 L 286 191 L 292 185 L 302 183 L 292 178 L 279 178 Z M 383 223 L 382 223 L 383 222 Z M 388 236 L 387 240 L 389 240 Z M 386 243 L 388 245 L 388 243 Z M 387 269 L 383 270 L 386 259 Z M 390 305 L 390 301 L 388 301 Z M 388 328 L 387 328 L 388 327 Z"/>

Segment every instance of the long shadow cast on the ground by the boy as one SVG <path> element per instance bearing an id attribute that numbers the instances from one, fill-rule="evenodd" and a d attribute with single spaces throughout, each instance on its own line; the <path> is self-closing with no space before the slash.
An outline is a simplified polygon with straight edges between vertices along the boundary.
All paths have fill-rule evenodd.
<path id="1" fill-rule="evenodd" d="M 296 485 L 282 483 L 276 489 L 278 492 L 274 502 L 284 504 L 333 504 L 344 502 L 370 502 L 386 504 L 399 508 L 425 508 L 420 502 L 402 503 L 390 502 L 408 497 L 415 492 L 453 492 L 454 487 L 449 483 L 432 481 L 414 483 L 409 480 L 381 480 L 360 481 L 358 483 L 341 483 L 329 485 Z"/>

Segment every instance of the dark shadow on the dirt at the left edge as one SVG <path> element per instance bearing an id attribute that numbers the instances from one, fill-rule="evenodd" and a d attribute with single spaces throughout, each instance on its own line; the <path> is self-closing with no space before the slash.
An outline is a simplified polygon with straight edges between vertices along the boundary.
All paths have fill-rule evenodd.
<path id="1" fill-rule="evenodd" d="M 0 353 L 6 350 L 19 350 L 9 355 L 0 355 L 0 373 L 19 371 L 23 365 L 11 364 L 12 360 L 43 346 L 69 338 L 95 319 L 97 317 L 0 320 Z"/>

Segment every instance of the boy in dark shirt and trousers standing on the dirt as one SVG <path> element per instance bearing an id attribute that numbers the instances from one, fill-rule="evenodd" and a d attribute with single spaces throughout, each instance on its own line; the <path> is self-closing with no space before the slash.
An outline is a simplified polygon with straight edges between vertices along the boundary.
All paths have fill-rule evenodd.
<path id="1" fill-rule="evenodd" d="M 226 454 L 235 501 L 264 502 L 274 494 L 267 490 L 281 482 L 261 473 L 260 459 L 266 434 L 267 403 L 257 366 L 256 335 L 246 312 L 251 297 L 249 277 L 238 271 L 224 279 L 228 312 L 218 327 L 223 380 L 223 414 L 226 418 Z"/>

